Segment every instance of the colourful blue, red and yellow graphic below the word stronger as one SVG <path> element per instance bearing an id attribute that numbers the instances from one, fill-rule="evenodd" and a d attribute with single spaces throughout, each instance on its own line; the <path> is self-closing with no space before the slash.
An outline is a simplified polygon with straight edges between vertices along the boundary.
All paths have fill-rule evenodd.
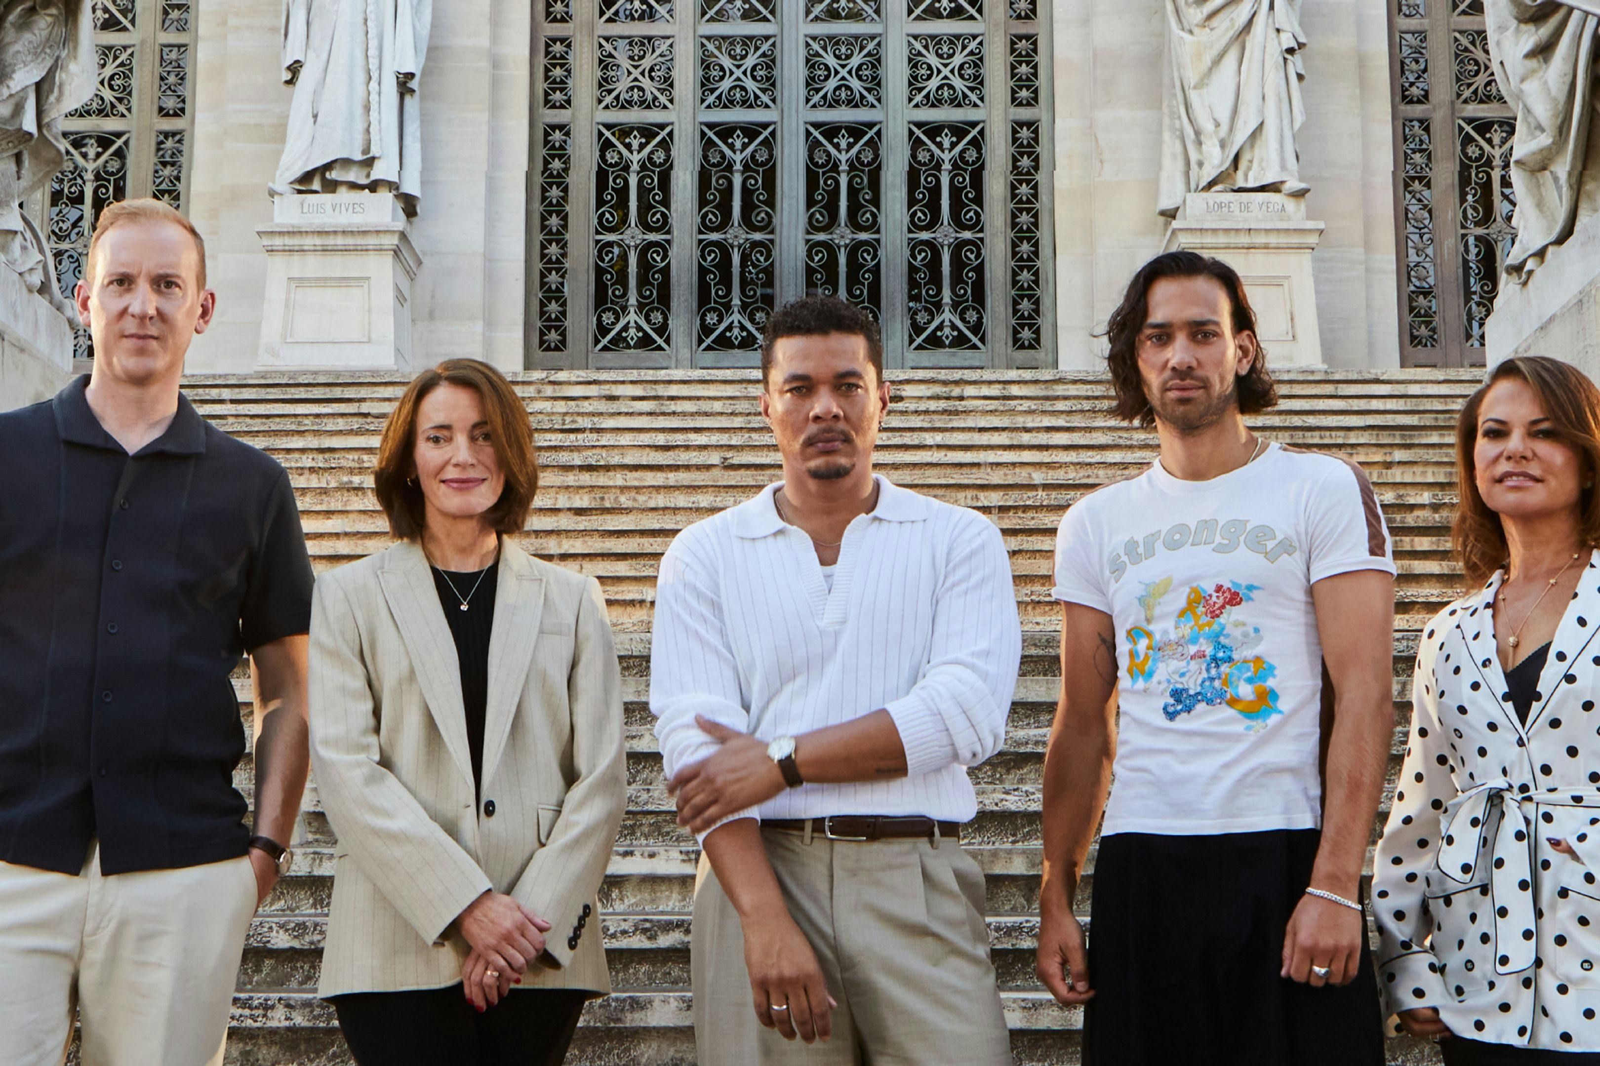
<path id="1" fill-rule="evenodd" d="M 1259 733 L 1283 714 L 1269 683 L 1277 667 L 1254 651 L 1261 627 L 1248 621 L 1259 584 L 1218 581 L 1176 591 L 1173 578 L 1144 584 L 1144 624 L 1126 629 L 1128 685 L 1166 691 L 1162 714 L 1174 722 L 1200 706 L 1232 707 L 1245 728 Z M 1245 608 L 1245 610 L 1240 610 Z M 1157 619 L 1171 611 L 1170 621 Z"/>

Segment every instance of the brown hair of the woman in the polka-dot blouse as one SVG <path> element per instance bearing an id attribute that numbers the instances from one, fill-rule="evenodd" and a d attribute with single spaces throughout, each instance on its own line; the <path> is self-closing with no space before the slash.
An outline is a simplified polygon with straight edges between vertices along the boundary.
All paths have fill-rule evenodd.
<path id="1" fill-rule="evenodd" d="M 1600 471 L 1600 389 L 1571 363 L 1547 355 L 1522 355 L 1498 365 L 1474 392 L 1456 419 L 1456 522 L 1451 541 L 1467 587 L 1483 584 L 1506 565 L 1506 530 L 1499 514 L 1490 511 L 1478 495 L 1477 466 L 1472 453 L 1478 442 L 1478 413 L 1483 397 L 1509 378 L 1525 381 L 1550 419 L 1550 429 L 1584 459 L 1589 482 Z M 1578 539 L 1600 541 L 1600 493 L 1589 488 L 1579 496 L 1582 517 Z"/>

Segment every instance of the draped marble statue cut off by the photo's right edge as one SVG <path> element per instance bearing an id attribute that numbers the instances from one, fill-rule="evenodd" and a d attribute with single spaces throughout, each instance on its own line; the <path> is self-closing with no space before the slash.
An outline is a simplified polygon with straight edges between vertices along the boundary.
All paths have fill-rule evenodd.
<path id="1" fill-rule="evenodd" d="M 1600 138 L 1590 136 L 1600 0 L 1485 0 L 1483 26 L 1494 80 L 1517 110 L 1506 280 L 1520 285 L 1600 213 Z"/>

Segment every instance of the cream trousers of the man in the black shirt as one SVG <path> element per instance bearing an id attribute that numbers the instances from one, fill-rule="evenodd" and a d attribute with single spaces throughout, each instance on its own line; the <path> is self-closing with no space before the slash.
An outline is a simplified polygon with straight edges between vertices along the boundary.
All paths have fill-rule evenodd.
<path id="1" fill-rule="evenodd" d="M 245 933 L 248 858 L 104 877 L 0 863 L 0 1063 L 221 1066 Z"/>

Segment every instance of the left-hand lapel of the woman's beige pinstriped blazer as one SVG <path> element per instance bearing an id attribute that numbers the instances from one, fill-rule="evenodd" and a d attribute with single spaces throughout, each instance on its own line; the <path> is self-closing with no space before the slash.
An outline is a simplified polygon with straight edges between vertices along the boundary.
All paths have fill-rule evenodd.
<path id="1" fill-rule="evenodd" d="M 456 640 L 450 635 L 450 623 L 445 621 L 445 608 L 438 605 L 438 589 L 434 587 L 427 555 L 411 543 L 395 544 L 389 552 L 389 563 L 378 575 L 384 599 L 389 602 L 389 613 L 394 615 L 406 651 L 411 653 L 411 669 L 416 671 L 422 699 L 427 701 L 434 723 L 445 738 L 445 747 L 456 760 L 461 776 L 472 781 L 467 712 L 461 699 L 461 663 L 456 658 Z"/>

